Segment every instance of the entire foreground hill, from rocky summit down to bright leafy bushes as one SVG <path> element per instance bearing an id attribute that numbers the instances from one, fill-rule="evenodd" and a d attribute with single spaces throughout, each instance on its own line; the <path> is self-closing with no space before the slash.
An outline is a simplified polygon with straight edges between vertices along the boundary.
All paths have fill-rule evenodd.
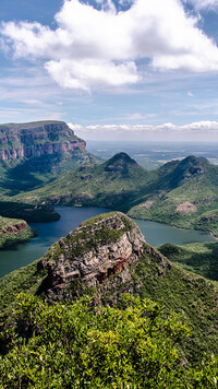
<path id="1" fill-rule="evenodd" d="M 0 385 L 216 388 L 217 298 L 126 215 L 93 217 L 0 280 Z"/>

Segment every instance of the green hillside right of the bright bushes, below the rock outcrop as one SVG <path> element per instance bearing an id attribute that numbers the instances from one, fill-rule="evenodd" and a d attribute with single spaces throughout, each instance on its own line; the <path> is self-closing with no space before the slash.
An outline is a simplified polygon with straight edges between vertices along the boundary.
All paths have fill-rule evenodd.
<path id="1" fill-rule="evenodd" d="M 131 271 L 134 280 L 131 290 L 137 291 L 142 298 L 162 302 L 168 311 L 180 314 L 192 330 L 190 341 L 182 344 L 187 359 L 199 361 L 204 352 L 218 355 L 218 290 L 214 283 L 175 264 L 164 273 L 161 264 L 147 256 L 133 263 Z"/>

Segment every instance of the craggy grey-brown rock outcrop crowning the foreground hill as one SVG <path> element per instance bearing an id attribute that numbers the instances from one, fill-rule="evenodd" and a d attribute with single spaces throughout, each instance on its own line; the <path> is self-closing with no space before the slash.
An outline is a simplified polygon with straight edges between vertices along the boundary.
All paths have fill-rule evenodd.
<path id="1" fill-rule="evenodd" d="M 131 278 L 128 268 L 144 252 L 160 263 L 161 270 L 157 275 L 162 275 L 169 262 L 146 245 L 131 219 L 121 212 L 93 217 L 52 245 L 38 261 L 38 271 L 48 270 L 38 293 L 46 292 L 48 298 L 56 299 L 57 295 L 59 298 L 69 296 L 70 288 L 104 290 L 105 283 L 120 272 L 119 282 L 124 283 Z"/>

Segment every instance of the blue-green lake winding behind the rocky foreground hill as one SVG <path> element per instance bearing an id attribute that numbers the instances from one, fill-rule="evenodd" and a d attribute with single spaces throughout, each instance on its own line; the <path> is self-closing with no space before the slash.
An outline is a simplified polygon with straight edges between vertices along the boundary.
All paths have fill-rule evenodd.
<path id="1" fill-rule="evenodd" d="M 0 278 L 40 258 L 56 240 L 65 236 L 71 229 L 76 228 L 84 220 L 110 211 L 105 208 L 70 207 L 57 207 L 56 210 L 61 214 L 60 221 L 29 223 L 37 231 L 37 237 L 29 239 L 25 244 L 0 250 Z M 146 241 L 152 246 L 159 246 L 165 243 L 184 245 L 215 240 L 210 235 L 199 231 L 180 229 L 166 224 L 142 220 L 135 220 L 135 222 L 144 234 Z"/>

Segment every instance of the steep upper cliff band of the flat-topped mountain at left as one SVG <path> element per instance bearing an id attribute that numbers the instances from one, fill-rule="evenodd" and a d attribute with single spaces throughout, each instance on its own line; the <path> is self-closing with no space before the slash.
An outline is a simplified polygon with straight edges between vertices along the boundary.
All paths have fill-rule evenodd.
<path id="1" fill-rule="evenodd" d="M 0 161 L 72 154 L 85 148 L 85 141 L 61 121 L 0 126 Z"/>

